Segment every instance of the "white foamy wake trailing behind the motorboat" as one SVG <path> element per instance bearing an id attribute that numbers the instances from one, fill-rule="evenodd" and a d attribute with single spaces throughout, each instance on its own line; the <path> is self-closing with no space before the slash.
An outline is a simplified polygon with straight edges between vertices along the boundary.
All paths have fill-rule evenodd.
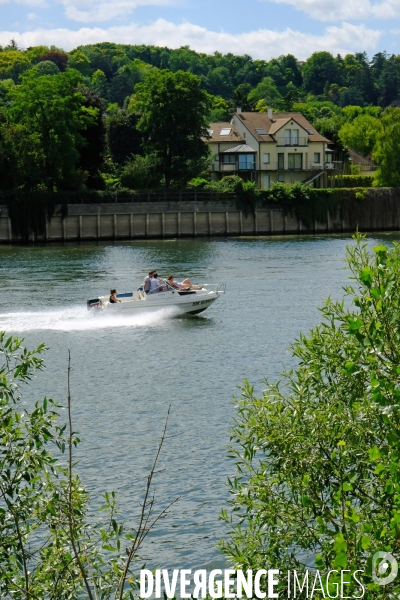
<path id="1" fill-rule="evenodd" d="M 176 307 L 162 308 L 156 312 L 139 315 L 90 313 L 81 306 L 0 314 L 0 331 L 85 331 L 107 327 L 152 327 L 160 326 L 181 311 Z"/>

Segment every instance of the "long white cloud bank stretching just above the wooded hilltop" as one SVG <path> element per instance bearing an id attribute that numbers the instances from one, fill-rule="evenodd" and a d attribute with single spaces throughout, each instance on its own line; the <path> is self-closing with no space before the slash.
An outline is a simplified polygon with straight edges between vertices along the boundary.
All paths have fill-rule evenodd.
<path id="1" fill-rule="evenodd" d="M 108 41 L 121 44 L 153 44 L 169 48 L 189 45 L 193 50 L 208 54 L 218 50 L 223 53 L 250 54 L 253 58 L 266 60 L 280 54 L 291 53 L 305 60 L 318 50 L 328 50 L 333 54 L 375 50 L 381 34 L 382 32 L 368 29 L 365 25 L 342 23 L 341 27 L 326 27 L 320 35 L 293 31 L 289 28 L 284 31 L 259 29 L 233 35 L 223 31 L 209 31 L 191 23 L 175 25 L 164 19 L 158 19 L 146 26 L 131 23 L 107 29 L 100 27 L 84 27 L 78 31 L 36 29 L 24 33 L 0 31 L 0 45 L 15 39 L 20 47 L 56 44 L 65 50 L 71 50 L 81 44 Z"/>

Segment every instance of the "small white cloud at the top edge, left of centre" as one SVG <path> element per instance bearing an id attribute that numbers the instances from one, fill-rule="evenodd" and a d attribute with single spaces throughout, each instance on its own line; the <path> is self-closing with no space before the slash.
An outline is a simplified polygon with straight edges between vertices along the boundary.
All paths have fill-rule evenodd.
<path id="1" fill-rule="evenodd" d="M 168 6 L 174 0 L 62 0 L 65 16 L 80 23 L 104 22 L 126 17 L 138 6 Z"/>

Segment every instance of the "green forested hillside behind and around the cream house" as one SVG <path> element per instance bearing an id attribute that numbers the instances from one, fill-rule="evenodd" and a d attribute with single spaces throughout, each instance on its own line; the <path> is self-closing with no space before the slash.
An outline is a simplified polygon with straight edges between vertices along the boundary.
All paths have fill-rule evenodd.
<path id="1" fill-rule="evenodd" d="M 385 52 L 264 61 L 106 42 L 22 50 L 12 41 L 0 48 L 0 190 L 185 185 L 206 174 L 207 123 L 239 106 L 300 111 L 338 152 L 350 146 L 384 164 L 398 105 L 400 56 Z"/>

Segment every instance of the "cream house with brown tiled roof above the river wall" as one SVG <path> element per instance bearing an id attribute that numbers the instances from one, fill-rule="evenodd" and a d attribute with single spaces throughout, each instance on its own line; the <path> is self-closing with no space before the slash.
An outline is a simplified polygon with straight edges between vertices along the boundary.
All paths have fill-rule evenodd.
<path id="1" fill-rule="evenodd" d="M 302 182 L 326 185 L 335 170 L 331 142 L 301 113 L 242 112 L 230 123 L 211 123 L 206 140 L 213 154 L 213 178 L 240 175 L 258 187 Z"/>

